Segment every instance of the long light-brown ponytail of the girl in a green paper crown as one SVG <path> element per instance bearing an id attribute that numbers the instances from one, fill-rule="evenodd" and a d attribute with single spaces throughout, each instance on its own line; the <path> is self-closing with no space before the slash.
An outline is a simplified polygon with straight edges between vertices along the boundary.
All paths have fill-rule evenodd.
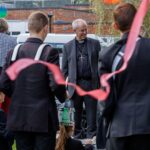
<path id="1" fill-rule="evenodd" d="M 70 132 L 73 132 L 73 129 L 73 126 L 60 125 L 60 133 L 56 142 L 55 150 L 65 150 L 66 141 L 70 137 Z"/>

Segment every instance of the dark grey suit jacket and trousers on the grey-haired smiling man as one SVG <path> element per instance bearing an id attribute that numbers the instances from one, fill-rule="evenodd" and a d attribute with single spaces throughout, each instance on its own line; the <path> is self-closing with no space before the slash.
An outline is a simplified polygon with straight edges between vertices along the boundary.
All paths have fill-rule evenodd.
<path id="1" fill-rule="evenodd" d="M 78 84 L 83 89 L 89 91 L 99 87 L 98 77 L 98 57 L 100 51 L 100 44 L 97 40 L 87 38 L 86 51 L 88 54 L 88 62 L 91 69 L 91 79 L 78 79 L 77 74 L 77 47 L 76 40 L 65 44 L 63 49 L 62 71 L 65 78 L 68 77 L 68 82 Z M 81 117 L 83 110 L 83 101 L 85 102 L 86 119 L 87 119 L 87 137 L 92 138 L 96 133 L 96 100 L 89 96 L 80 97 L 76 94 L 75 89 L 68 87 L 70 97 L 74 101 L 75 107 L 75 134 L 81 132 Z M 78 131 L 77 131 L 78 130 Z M 78 134 L 77 133 L 77 134 Z M 81 138 L 79 136 L 79 138 Z"/>

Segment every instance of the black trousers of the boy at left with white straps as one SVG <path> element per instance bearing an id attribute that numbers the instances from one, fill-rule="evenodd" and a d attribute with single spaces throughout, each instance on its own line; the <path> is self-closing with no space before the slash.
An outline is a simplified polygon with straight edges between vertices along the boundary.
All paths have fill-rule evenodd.
<path id="1" fill-rule="evenodd" d="M 55 150 L 56 132 L 15 132 L 17 150 Z"/>

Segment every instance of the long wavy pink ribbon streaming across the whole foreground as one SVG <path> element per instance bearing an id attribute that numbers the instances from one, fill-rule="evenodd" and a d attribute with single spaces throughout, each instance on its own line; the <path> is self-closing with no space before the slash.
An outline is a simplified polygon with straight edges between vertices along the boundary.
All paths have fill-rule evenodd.
<path id="1" fill-rule="evenodd" d="M 127 45 L 125 48 L 124 63 L 122 65 L 122 67 L 115 72 L 103 74 L 100 78 L 101 85 L 103 87 L 105 87 L 105 91 L 102 89 L 96 89 L 96 90 L 87 92 L 87 91 L 84 91 L 83 89 L 81 89 L 78 85 L 75 85 L 73 83 L 68 83 L 69 86 L 73 86 L 76 89 L 77 93 L 80 96 L 90 95 L 97 100 L 105 100 L 107 98 L 107 96 L 110 93 L 110 86 L 108 84 L 108 79 L 110 79 L 113 75 L 124 71 L 127 68 L 128 61 L 130 60 L 130 58 L 134 52 L 134 49 L 135 49 L 136 39 L 140 33 L 141 25 L 143 23 L 145 15 L 148 11 L 149 2 L 150 2 L 150 0 L 142 0 L 141 5 L 138 9 L 138 12 L 134 18 L 132 28 L 129 33 Z M 36 63 L 41 63 L 41 64 L 47 66 L 48 69 L 52 71 L 52 73 L 54 75 L 54 79 L 58 84 L 61 84 L 61 85 L 66 84 L 60 69 L 54 64 L 50 64 L 50 63 L 43 62 L 43 61 L 35 61 L 32 59 L 20 59 L 20 60 L 16 61 L 15 63 L 13 63 L 6 70 L 6 72 L 11 80 L 15 80 L 21 70 L 25 69 L 26 67 L 28 67 L 30 65 L 36 64 Z"/>

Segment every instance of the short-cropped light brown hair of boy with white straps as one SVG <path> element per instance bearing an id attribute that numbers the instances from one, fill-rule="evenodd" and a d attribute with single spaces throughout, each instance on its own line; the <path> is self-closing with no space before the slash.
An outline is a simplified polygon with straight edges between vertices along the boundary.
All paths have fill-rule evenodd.
<path id="1" fill-rule="evenodd" d="M 29 32 L 39 33 L 46 25 L 48 25 L 48 16 L 41 11 L 33 12 L 28 18 Z"/>

